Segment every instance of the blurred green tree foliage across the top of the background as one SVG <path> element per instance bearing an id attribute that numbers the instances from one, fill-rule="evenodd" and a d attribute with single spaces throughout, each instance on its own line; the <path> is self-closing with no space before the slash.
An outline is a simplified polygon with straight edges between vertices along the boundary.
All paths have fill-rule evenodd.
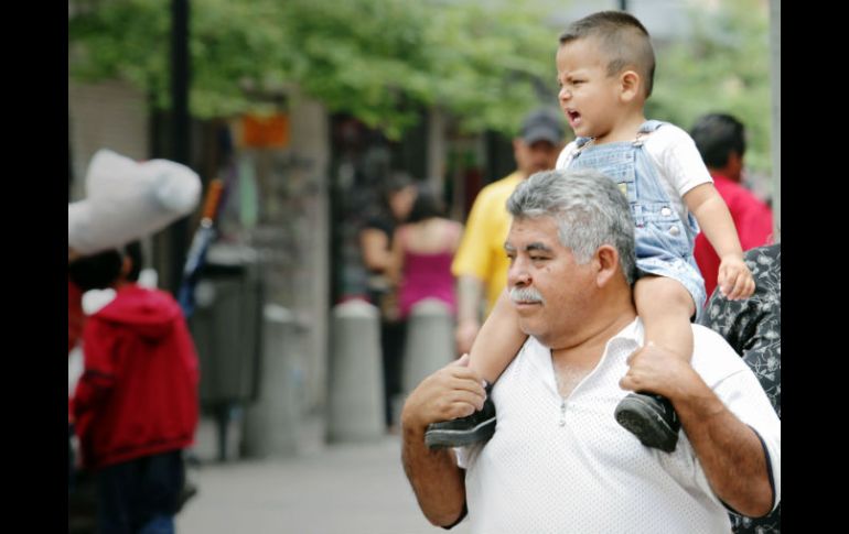
<path id="1" fill-rule="evenodd" d="M 170 2 L 85 2 L 68 22 L 72 76 L 126 79 L 168 108 Z M 766 4 L 692 6 L 690 37 L 657 43 L 647 113 L 685 129 L 705 112 L 734 113 L 750 131 L 749 165 L 769 170 Z M 563 8 L 556 0 L 191 0 L 192 112 L 261 112 L 262 95 L 298 86 L 395 139 L 422 107 L 447 110 L 468 132 L 512 135 L 529 108 L 556 105 L 562 28 L 547 21 Z"/>

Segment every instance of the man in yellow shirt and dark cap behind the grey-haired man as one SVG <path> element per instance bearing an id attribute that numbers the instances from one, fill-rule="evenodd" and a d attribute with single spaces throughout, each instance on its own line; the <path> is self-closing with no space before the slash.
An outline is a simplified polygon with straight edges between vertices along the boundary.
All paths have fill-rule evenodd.
<path id="1" fill-rule="evenodd" d="M 509 260 L 504 240 L 511 227 L 506 201 L 513 189 L 531 174 L 555 168 L 563 149 L 565 128 L 557 110 L 538 109 L 525 117 L 519 135 L 513 140 L 518 168 L 477 194 L 469 212 L 463 239 L 451 271 L 458 280 L 456 350 L 469 352 L 483 323 L 482 298 L 490 313 L 507 283 Z M 484 293 L 485 292 L 485 293 Z"/>

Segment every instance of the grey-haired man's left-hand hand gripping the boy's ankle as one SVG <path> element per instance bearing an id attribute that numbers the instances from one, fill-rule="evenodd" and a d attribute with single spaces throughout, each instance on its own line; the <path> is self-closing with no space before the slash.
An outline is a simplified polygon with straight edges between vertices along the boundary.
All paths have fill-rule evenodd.
<path id="1" fill-rule="evenodd" d="M 469 368 L 469 355 L 421 381 L 404 403 L 401 426 L 420 431 L 431 423 L 465 417 L 483 407 L 483 380 Z"/>

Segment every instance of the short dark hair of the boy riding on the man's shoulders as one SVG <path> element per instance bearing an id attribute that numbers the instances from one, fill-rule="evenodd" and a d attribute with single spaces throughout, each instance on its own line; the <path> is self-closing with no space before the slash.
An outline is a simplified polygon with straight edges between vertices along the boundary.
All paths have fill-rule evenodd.
<path id="1" fill-rule="evenodd" d="M 634 67 L 645 80 L 645 96 L 652 95 L 655 77 L 655 51 L 645 26 L 624 11 L 599 11 L 572 22 L 560 34 L 560 46 L 579 39 L 594 37 L 608 56 L 608 76 Z"/>

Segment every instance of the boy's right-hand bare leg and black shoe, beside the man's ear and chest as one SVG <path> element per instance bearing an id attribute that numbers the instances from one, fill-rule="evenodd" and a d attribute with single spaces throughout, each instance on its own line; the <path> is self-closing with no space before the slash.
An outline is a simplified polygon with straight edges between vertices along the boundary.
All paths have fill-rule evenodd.
<path id="1" fill-rule="evenodd" d="M 634 303 L 645 326 L 644 342 L 653 341 L 689 361 L 690 317 L 696 305 L 687 288 L 674 279 L 643 276 L 635 284 Z M 667 453 L 675 450 L 680 422 L 666 397 L 651 392 L 631 393 L 616 406 L 615 417 L 643 445 Z"/>

